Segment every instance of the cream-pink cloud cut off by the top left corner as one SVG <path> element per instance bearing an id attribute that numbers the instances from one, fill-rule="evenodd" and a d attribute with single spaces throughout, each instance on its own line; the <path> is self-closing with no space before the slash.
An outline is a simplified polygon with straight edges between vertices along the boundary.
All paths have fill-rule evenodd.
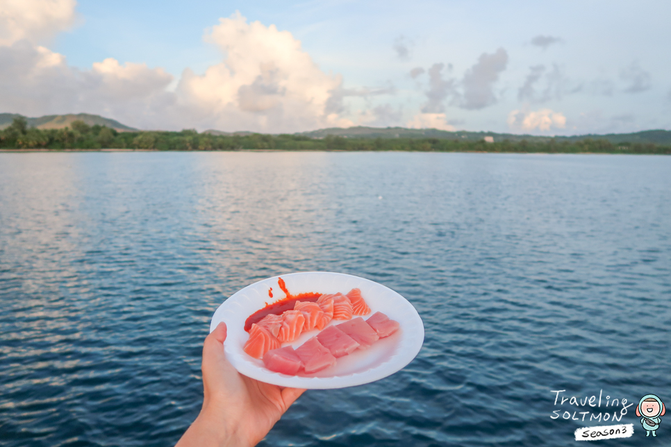
<path id="1" fill-rule="evenodd" d="M 0 0 L 0 45 L 40 43 L 72 26 L 75 0 Z"/>

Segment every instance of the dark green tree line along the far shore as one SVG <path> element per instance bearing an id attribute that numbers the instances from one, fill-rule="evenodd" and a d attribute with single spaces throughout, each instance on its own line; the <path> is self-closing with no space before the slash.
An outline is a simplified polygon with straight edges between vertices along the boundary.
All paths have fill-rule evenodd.
<path id="1" fill-rule="evenodd" d="M 511 142 L 460 141 L 440 138 L 347 138 L 327 135 L 210 135 L 196 130 L 181 132 L 117 132 L 98 124 L 72 122 L 72 127 L 40 130 L 28 128 L 24 118 L 15 118 L 0 131 L 0 149 L 145 149 L 156 151 L 422 151 L 508 153 L 622 153 L 671 155 L 671 146 L 654 143 L 618 143 L 607 140 Z"/>

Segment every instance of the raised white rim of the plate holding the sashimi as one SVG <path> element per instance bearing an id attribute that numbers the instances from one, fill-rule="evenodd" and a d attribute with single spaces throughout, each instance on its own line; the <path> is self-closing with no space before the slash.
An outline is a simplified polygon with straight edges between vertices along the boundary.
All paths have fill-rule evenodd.
<path id="1" fill-rule="evenodd" d="M 388 359 L 372 367 L 371 369 L 367 369 L 365 371 L 351 373 L 345 376 L 334 376 L 328 378 L 323 377 L 310 378 L 304 376 L 287 376 L 285 374 L 275 373 L 272 371 L 268 371 L 267 369 L 264 369 L 260 366 L 253 365 L 249 361 L 245 361 L 243 359 L 238 358 L 240 356 L 240 353 L 234 351 L 233 346 L 231 346 L 233 344 L 231 343 L 226 344 L 226 341 L 224 341 L 224 352 L 226 353 L 226 357 L 239 373 L 249 378 L 253 378 L 261 382 L 270 383 L 272 385 L 279 385 L 281 387 L 295 387 L 305 389 L 336 389 L 336 388 L 364 385 L 366 383 L 375 382 L 376 380 L 386 378 L 403 369 L 410 362 L 412 362 L 412 360 L 415 357 L 417 357 L 417 354 L 420 352 L 422 345 L 424 344 L 424 322 L 422 321 L 420 314 L 417 312 L 417 309 L 415 309 L 415 306 L 413 306 L 413 304 L 410 301 L 408 301 L 407 298 L 405 298 L 395 290 L 390 289 L 390 287 L 381 284 L 380 282 L 363 278 L 361 276 L 351 275 L 349 273 L 339 273 L 333 271 L 297 271 L 291 273 L 283 273 L 280 275 L 271 276 L 269 278 L 264 278 L 252 282 L 251 284 L 242 287 L 242 289 L 238 290 L 237 292 L 229 296 L 229 298 L 226 298 L 224 302 L 221 305 L 219 305 L 219 307 L 217 307 L 217 310 L 215 310 L 212 319 L 210 320 L 210 332 L 215 330 L 219 322 L 225 321 L 224 317 L 226 316 L 226 314 L 231 314 L 232 310 L 229 309 L 230 307 L 240 305 L 239 300 L 242 299 L 243 297 L 245 299 L 249 299 L 245 295 L 246 290 L 248 289 L 251 290 L 254 289 L 254 287 L 258 287 L 258 284 L 261 282 L 272 282 L 274 280 L 276 283 L 276 280 L 278 280 L 278 278 L 286 279 L 290 277 L 305 276 L 305 275 L 327 275 L 334 277 L 354 278 L 354 280 L 356 281 L 367 282 L 373 285 L 374 287 L 382 287 L 383 289 L 386 289 L 387 293 L 390 293 L 391 296 L 394 296 L 397 300 L 398 298 L 400 298 L 398 303 L 400 303 L 402 306 L 406 307 L 408 311 L 410 311 L 409 318 L 413 320 L 413 323 L 415 323 L 415 327 L 413 327 L 413 333 L 404 332 L 403 334 L 401 334 L 401 339 L 399 340 L 399 346 L 397 346 L 397 348 L 404 347 L 404 351 L 399 352 L 399 349 L 395 349 L 395 352 L 392 355 L 390 355 Z M 247 317 L 245 317 L 245 319 L 247 319 Z M 226 326 L 229 326 L 228 322 L 226 322 Z M 240 326 L 239 323 L 236 326 Z M 229 337 L 230 337 L 230 329 L 229 329 Z M 235 337 L 236 341 L 237 339 L 238 336 Z M 392 362 L 393 366 L 391 368 L 389 368 L 389 366 L 385 367 L 385 365 L 388 365 L 390 362 Z"/>

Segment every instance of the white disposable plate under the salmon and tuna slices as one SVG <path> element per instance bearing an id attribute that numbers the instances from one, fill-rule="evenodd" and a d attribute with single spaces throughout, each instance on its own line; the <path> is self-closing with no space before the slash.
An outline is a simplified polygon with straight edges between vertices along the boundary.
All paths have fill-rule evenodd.
<path id="1" fill-rule="evenodd" d="M 274 373 L 265 368 L 263 361 L 247 355 L 242 348 L 249 338 L 249 334 L 245 332 L 247 318 L 257 310 L 263 309 L 267 304 L 285 298 L 284 292 L 278 286 L 278 278 L 284 280 L 292 295 L 306 292 L 347 294 L 354 287 L 358 287 L 372 311 L 369 315 L 364 315 L 364 319 L 379 311 L 390 319 L 398 321 L 400 328 L 390 337 L 376 341 L 367 350 L 357 350 L 350 355 L 340 357 L 334 366 L 317 373 L 299 376 Z M 268 295 L 270 287 L 272 287 L 272 298 Z M 255 282 L 235 292 L 219 306 L 212 317 L 210 332 L 215 330 L 221 321 L 226 323 L 228 329 L 224 351 L 235 369 L 247 377 L 281 387 L 331 389 L 374 382 L 404 368 L 420 352 L 422 343 L 424 343 L 422 319 L 406 298 L 377 282 L 345 273 L 322 271 L 288 273 Z M 332 321 L 331 324 L 342 322 Z M 318 332 L 318 330 L 311 330 L 301 334 L 301 337 L 291 345 L 297 348 Z"/>

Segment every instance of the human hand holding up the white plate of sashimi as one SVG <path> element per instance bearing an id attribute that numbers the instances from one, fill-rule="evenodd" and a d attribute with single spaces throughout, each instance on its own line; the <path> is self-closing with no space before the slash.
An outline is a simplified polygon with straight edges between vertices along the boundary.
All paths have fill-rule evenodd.
<path id="1" fill-rule="evenodd" d="M 224 354 L 226 324 L 203 346 L 203 407 L 176 447 L 255 446 L 305 391 L 242 376 Z"/>

